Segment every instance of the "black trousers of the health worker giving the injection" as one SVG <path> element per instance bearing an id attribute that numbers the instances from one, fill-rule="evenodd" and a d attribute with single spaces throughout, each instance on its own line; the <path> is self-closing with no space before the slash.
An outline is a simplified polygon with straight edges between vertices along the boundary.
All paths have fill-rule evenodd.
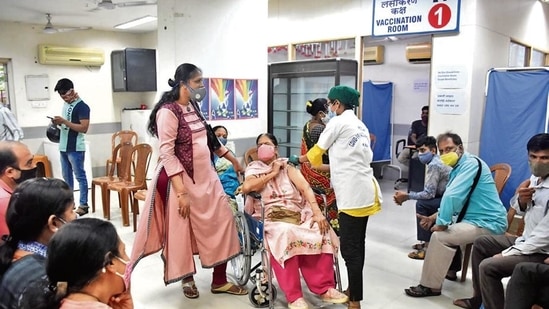
<path id="1" fill-rule="evenodd" d="M 347 267 L 349 300 L 362 300 L 362 270 L 365 259 L 366 226 L 369 217 L 353 217 L 339 213 L 341 255 Z"/>

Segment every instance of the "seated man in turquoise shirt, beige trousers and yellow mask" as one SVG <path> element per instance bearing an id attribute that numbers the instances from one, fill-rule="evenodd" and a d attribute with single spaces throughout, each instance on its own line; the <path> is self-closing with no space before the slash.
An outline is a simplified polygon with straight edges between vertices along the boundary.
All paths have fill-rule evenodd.
<path id="1" fill-rule="evenodd" d="M 480 235 L 503 234 L 507 229 L 507 212 L 488 165 L 465 152 L 457 134 L 441 134 L 438 147 L 440 159 L 451 166 L 452 171 L 436 214 L 436 225 L 431 228 L 434 233 L 425 254 L 419 285 L 404 290 L 412 297 L 440 295 L 442 282 L 459 246 L 472 243 Z M 430 221 L 427 225 L 434 217 L 425 218 Z"/>

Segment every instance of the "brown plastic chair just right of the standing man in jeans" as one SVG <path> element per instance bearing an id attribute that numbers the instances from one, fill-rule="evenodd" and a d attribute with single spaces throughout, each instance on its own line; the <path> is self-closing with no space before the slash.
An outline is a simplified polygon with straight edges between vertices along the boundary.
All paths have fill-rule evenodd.
<path id="1" fill-rule="evenodd" d="M 129 169 L 127 173 L 124 173 L 124 170 L 120 168 L 122 165 L 131 164 L 131 154 L 133 150 L 133 144 L 131 142 L 123 142 L 114 147 L 111 154 L 111 162 L 118 161 L 117 164 L 111 164 L 107 172 L 107 176 L 95 177 L 92 179 L 91 193 L 92 193 L 92 212 L 95 212 L 95 186 L 101 188 L 101 203 L 103 207 L 103 217 L 110 220 L 111 215 L 110 207 L 107 206 L 107 187 L 110 183 L 119 182 L 122 180 L 129 179 L 130 173 Z M 117 168 L 118 167 L 118 168 Z M 116 170 L 116 172 L 115 172 Z"/>

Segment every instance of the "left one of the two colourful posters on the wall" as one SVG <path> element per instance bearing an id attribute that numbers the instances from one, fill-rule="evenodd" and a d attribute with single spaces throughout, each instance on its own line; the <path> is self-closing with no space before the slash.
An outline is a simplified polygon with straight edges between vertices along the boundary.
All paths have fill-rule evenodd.
<path id="1" fill-rule="evenodd" d="M 234 119 L 234 80 L 210 78 L 211 120 Z"/>

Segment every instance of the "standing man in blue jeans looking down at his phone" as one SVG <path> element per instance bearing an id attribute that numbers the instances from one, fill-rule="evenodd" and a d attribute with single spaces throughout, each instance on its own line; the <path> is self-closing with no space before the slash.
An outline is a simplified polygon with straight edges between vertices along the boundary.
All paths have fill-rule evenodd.
<path id="1" fill-rule="evenodd" d="M 65 101 L 62 116 L 55 116 L 52 122 L 61 127 L 59 151 L 61 153 L 61 171 L 63 179 L 74 188 L 73 173 L 80 190 L 80 206 L 76 210 L 79 216 L 88 213 L 88 180 L 84 170 L 86 153 L 85 134 L 90 125 L 90 107 L 74 91 L 74 84 L 68 78 L 62 78 L 55 85 L 55 91 Z"/>

